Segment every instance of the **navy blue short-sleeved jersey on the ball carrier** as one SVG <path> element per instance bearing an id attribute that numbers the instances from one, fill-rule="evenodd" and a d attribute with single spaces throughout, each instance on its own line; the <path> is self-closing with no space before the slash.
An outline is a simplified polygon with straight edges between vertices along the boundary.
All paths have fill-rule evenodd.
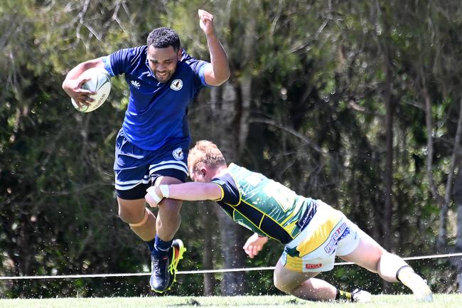
<path id="1" fill-rule="evenodd" d="M 125 75 L 129 105 L 125 112 L 125 137 L 137 147 L 156 150 L 171 139 L 190 138 L 188 105 L 207 86 L 207 62 L 182 51 L 175 73 L 166 83 L 154 77 L 147 60 L 147 46 L 121 49 L 102 58 L 111 76 Z"/>

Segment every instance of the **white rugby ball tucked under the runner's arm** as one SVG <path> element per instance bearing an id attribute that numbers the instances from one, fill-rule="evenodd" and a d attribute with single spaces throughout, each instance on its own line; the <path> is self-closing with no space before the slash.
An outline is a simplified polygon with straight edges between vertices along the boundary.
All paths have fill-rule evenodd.
<path id="1" fill-rule="evenodd" d="M 111 76 L 104 68 L 90 68 L 82 73 L 82 77 L 90 78 L 82 84 L 82 89 L 95 91 L 95 95 L 90 95 L 93 102 L 90 105 L 82 105 L 79 108 L 77 102 L 72 98 L 72 105 L 80 112 L 92 112 L 101 107 L 102 103 L 107 100 L 109 92 L 111 92 Z"/>

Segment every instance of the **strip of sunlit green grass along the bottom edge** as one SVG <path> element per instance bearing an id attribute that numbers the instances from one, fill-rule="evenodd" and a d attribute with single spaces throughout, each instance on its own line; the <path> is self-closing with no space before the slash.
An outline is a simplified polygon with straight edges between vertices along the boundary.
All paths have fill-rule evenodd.
<path id="1" fill-rule="evenodd" d="M 0 299 L 1 308 L 198 308 L 198 307 L 368 307 L 461 308 L 462 294 L 436 294 L 434 302 L 416 302 L 412 295 L 375 295 L 372 302 L 306 302 L 290 296 L 248 297 L 106 297 L 57 299 Z"/>

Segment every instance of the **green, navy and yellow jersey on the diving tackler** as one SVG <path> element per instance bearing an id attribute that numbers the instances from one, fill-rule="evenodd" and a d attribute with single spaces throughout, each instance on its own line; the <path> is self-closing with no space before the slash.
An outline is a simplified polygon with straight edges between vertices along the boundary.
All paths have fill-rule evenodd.
<path id="1" fill-rule="evenodd" d="M 262 236 L 286 244 L 308 225 L 316 213 L 311 198 L 257 172 L 230 164 L 228 173 L 212 180 L 222 189 L 216 202 L 233 221 Z"/>

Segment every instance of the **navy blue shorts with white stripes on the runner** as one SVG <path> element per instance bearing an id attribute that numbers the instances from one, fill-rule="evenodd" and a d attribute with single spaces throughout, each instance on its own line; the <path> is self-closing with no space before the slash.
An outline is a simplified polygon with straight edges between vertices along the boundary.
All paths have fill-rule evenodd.
<path id="1" fill-rule="evenodd" d="M 171 176 L 182 182 L 188 177 L 190 139 L 172 139 L 155 151 L 140 149 L 131 144 L 122 129 L 115 145 L 115 188 L 119 198 L 144 198 L 146 189 L 159 176 Z"/>

